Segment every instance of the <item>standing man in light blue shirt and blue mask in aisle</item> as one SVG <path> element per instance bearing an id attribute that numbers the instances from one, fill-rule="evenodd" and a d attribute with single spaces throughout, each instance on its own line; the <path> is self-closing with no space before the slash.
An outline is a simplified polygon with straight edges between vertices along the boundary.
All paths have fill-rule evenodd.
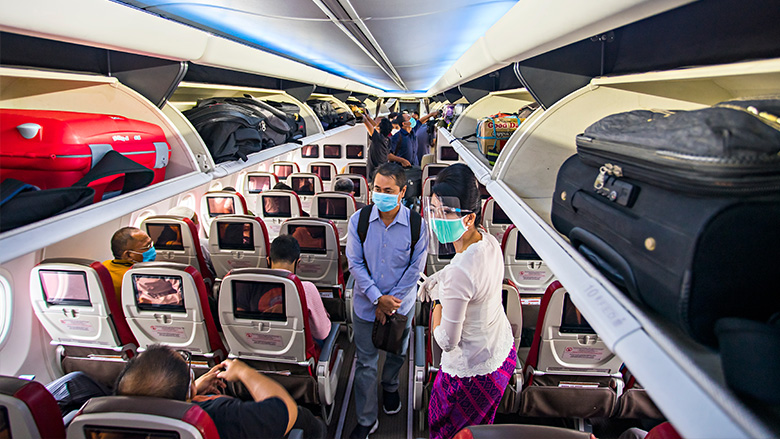
<path id="1" fill-rule="evenodd" d="M 379 351 L 371 340 L 374 320 L 384 322 L 397 312 L 407 316 L 401 355 L 387 353 L 382 370 L 383 409 L 387 414 L 401 411 L 398 372 L 403 366 L 409 344 L 409 329 L 416 300 L 417 280 L 425 268 L 428 235 L 420 227 L 412 248 L 411 213 L 400 201 L 406 193 L 406 174 L 395 163 L 376 170 L 373 181 L 373 205 L 365 242 L 360 242 L 360 212 L 349 220 L 347 260 L 355 278 L 352 325 L 357 347 L 355 369 L 355 407 L 358 425 L 350 438 L 365 439 L 379 426 L 377 419 L 377 363 Z"/>

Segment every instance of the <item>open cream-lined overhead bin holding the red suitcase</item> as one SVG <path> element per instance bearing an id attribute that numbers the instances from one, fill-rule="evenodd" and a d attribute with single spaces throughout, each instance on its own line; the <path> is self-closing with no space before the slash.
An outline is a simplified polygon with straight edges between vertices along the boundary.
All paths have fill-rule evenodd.
<path id="1" fill-rule="evenodd" d="M 46 91 L 42 93 L 42 91 Z M 159 126 L 171 147 L 165 180 L 134 192 L 0 235 L 5 262 L 67 236 L 89 230 L 187 188 L 204 184 L 196 159 L 165 114 L 116 78 L 74 73 L 0 68 L 0 107 L 119 115 Z"/>

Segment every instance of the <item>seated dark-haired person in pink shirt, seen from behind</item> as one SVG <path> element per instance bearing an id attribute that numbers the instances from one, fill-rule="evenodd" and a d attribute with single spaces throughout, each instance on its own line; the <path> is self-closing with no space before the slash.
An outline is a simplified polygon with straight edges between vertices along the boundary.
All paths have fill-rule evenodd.
<path id="1" fill-rule="evenodd" d="M 268 266 L 275 270 L 287 270 L 295 274 L 301 262 L 301 246 L 291 235 L 279 235 L 271 243 L 268 252 Z M 308 281 L 301 281 L 306 292 L 306 307 L 309 309 L 311 335 L 322 345 L 322 341 L 330 334 L 330 318 L 317 287 Z"/>

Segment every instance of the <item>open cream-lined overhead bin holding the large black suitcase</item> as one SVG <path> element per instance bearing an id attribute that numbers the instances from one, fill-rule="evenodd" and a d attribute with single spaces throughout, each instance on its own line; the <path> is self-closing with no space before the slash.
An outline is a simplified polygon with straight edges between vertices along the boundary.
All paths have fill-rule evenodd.
<path id="1" fill-rule="evenodd" d="M 595 78 L 523 123 L 483 177 L 490 194 L 566 286 L 588 322 L 686 437 L 771 437 L 780 427 L 763 409 L 756 410 L 726 387 L 715 352 L 630 301 L 553 229 L 556 176 L 563 161 L 576 152 L 575 136 L 609 114 L 697 109 L 778 90 L 777 58 Z M 464 142 L 449 136 L 475 172 L 489 169 Z"/>

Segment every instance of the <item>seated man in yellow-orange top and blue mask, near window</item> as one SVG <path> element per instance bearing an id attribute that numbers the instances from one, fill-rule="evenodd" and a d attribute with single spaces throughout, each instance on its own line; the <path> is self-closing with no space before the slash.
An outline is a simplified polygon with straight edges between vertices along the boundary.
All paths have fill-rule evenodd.
<path id="1" fill-rule="evenodd" d="M 153 261 L 157 257 L 152 238 L 138 227 L 122 227 L 111 237 L 114 259 L 103 262 L 114 281 L 114 294 L 122 303 L 122 277 L 136 262 Z"/>

